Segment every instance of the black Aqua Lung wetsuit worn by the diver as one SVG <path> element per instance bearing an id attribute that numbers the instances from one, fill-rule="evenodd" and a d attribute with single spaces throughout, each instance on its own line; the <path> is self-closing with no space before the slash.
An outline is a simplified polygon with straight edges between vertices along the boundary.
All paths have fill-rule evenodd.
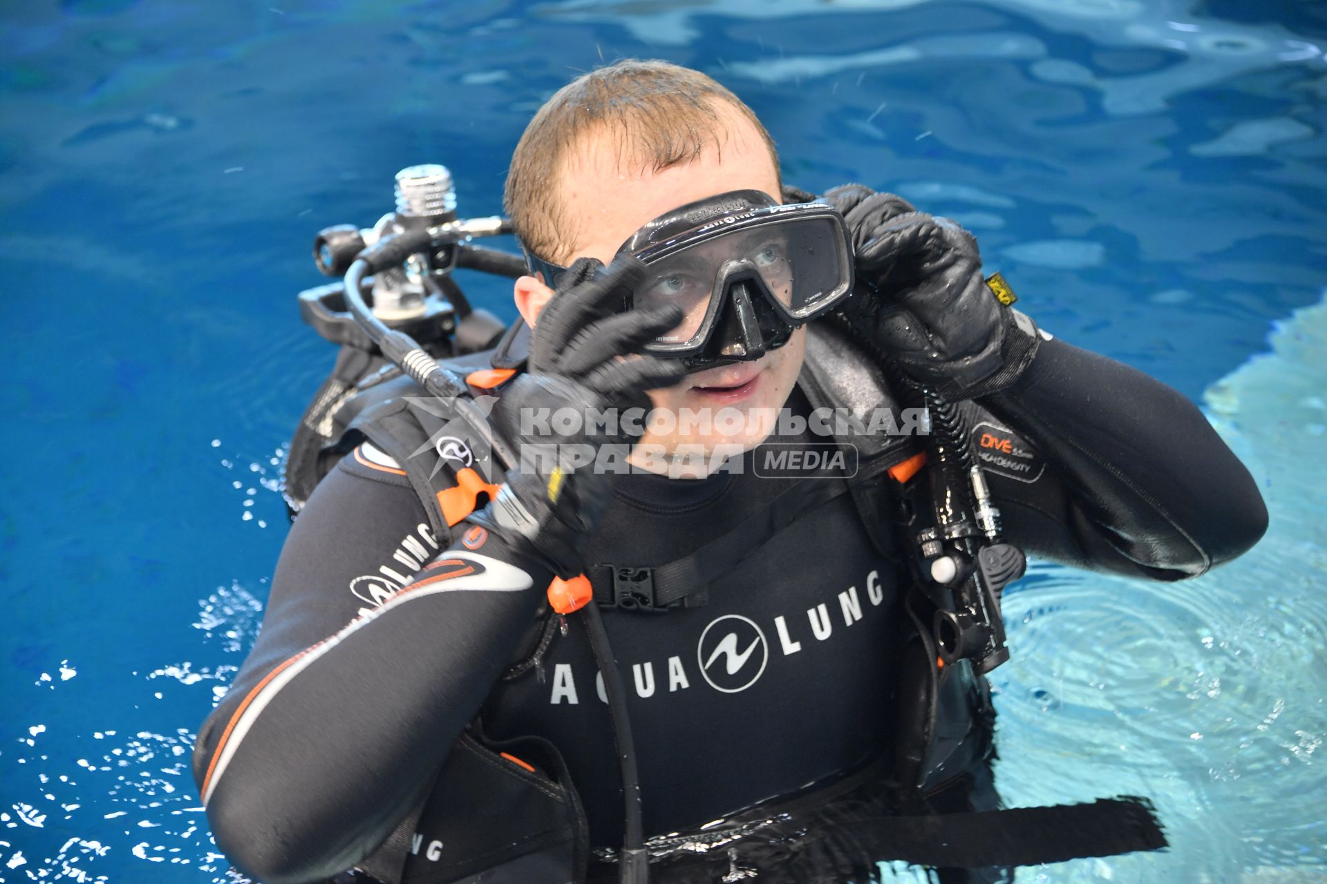
<path id="1" fill-rule="evenodd" d="M 1125 366 L 1048 341 L 1013 388 L 979 406 L 973 436 L 1005 534 L 1032 554 L 1178 579 L 1238 555 L 1266 527 L 1253 480 L 1197 408 Z M 805 403 L 795 394 L 790 407 Z M 764 506 L 780 481 L 622 477 L 588 561 L 685 555 Z M 537 669 L 500 679 L 551 575 L 496 542 L 478 555 L 458 543 L 443 557 L 450 565 L 415 584 L 423 590 L 393 596 L 438 546 L 401 470 L 362 449 L 296 521 L 259 640 L 194 758 L 218 844 L 240 868 L 299 881 L 358 861 L 480 708 L 491 737 L 552 741 L 592 846 L 620 843 L 608 708 L 583 636 L 555 636 Z M 451 574 L 467 577 L 435 583 Z M 910 628 L 904 590 L 901 566 L 872 547 L 839 496 L 714 575 L 702 607 L 605 611 L 629 692 L 646 835 L 886 751 L 893 667 Z M 962 733 L 969 722 L 947 726 Z M 411 856 L 411 873 L 425 871 L 426 854 Z"/>

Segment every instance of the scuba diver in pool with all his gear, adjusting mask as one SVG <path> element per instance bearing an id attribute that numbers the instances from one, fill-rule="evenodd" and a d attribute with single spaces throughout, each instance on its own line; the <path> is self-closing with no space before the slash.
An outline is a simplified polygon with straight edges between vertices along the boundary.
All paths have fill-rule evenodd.
<path id="1" fill-rule="evenodd" d="M 318 241 L 344 285 L 301 306 L 342 354 L 198 736 L 239 871 L 989 881 L 1165 844 L 1143 798 L 1001 808 L 985 673 L 1022 550 L 1176 580 L 1262 535 L 1186 398 L 1038 329 L 957 225 L 784 187 L 755 114 L 666 62 L 535 115 L 524 261 L 417 199 L 445 170 L 402 176 L 394 215 Z M 523 321 L 460 266 L 515 277 Z"/>

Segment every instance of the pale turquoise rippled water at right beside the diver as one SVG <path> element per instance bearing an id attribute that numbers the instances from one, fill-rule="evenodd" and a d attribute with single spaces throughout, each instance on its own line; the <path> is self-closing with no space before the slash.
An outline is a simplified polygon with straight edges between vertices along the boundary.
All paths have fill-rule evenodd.
<path id="1" fill-rule="evenodd" d="M 1169 584 L 1042 565 L 1006 598 L 1014 656 L 993 677 L 1006 798 L 1149 795 L 1173 844 L 1105 872 L 1071 863 L 1056 881 L 1237 868 L 1294 881 L 1327 861 L 1327 477 L 1304 469 L 1327 449 L 1302 429 L 1320 414 L 1324 342 L 1327 305 L 1302 310 L 1209 396 L 1269 489 L 1271 529 L 1251 553 Z"/>

